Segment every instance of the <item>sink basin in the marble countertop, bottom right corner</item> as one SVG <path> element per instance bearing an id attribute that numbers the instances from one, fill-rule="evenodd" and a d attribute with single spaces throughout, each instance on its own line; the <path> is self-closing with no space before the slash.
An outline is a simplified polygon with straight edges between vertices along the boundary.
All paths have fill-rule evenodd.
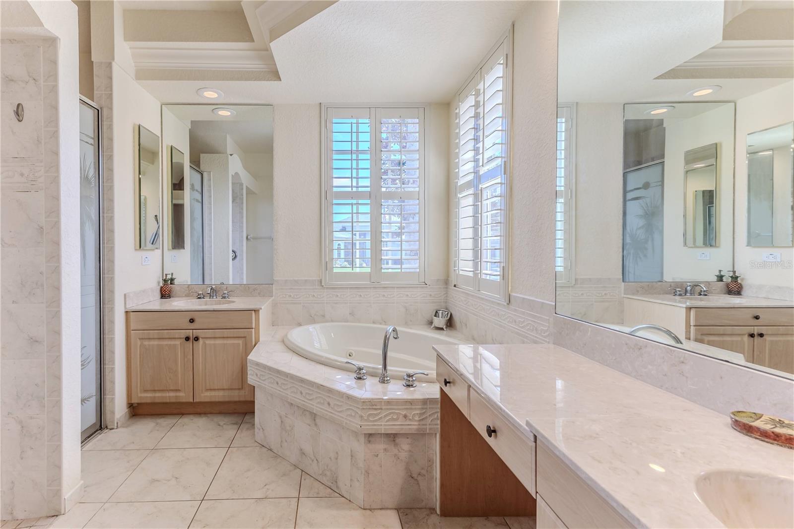
<path id="1" fill-rule="evenodd" d="M 695 481 L 695 493 L 725 527 L 794 527 L 794 480 L 713 470 Z"/>

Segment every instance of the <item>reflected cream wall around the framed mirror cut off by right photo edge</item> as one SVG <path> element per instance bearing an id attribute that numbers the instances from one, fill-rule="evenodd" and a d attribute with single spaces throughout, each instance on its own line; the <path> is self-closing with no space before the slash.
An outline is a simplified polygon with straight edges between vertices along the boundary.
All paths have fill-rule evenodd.
<path id="1" fill-rule="evenodd" d="M 767 295 L 794 299 L 794 249 L 747 246 L 747 134 L 794 120 L 794 81 L 736 102 L 736 202 L 734 266 L 746 286 L 766 288 Z M 775 193 L 777 195 L 777 191 Z M 765 253 L 781 254 L 781 264 L 764 264 Z M 788 263 L 788 268 L 786 264 Z"/>

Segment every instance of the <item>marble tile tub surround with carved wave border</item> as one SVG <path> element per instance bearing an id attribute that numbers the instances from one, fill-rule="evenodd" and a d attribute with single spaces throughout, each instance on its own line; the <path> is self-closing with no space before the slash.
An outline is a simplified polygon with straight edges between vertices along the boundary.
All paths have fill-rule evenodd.
<path id="1" fill-rule="evenodd" d="M 284 346 L 291 328 L 249 356 L 256 441 L 361 508 L 434 507 L 438 384 L 355 380 Z"/>

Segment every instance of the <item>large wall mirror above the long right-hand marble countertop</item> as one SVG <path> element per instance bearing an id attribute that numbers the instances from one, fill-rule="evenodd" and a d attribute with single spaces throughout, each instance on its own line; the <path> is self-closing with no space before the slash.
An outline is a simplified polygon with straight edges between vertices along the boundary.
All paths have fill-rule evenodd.
<path id="1" fill-rule="evenodd" d="M 763 3 L 560 3 L 557 313 L 794 378 L 794 80 L 768 56 L 794 8 Z"/>

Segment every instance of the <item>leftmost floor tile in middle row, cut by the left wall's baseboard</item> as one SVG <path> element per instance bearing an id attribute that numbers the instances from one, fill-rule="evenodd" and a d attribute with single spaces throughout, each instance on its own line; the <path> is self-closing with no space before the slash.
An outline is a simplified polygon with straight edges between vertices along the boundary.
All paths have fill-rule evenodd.
<path id="1" fill-rule="evenodd" d="M 149 450 L 88 450 L 83 452 L 83 503 L 106 502 L 144 460 Z"/>

